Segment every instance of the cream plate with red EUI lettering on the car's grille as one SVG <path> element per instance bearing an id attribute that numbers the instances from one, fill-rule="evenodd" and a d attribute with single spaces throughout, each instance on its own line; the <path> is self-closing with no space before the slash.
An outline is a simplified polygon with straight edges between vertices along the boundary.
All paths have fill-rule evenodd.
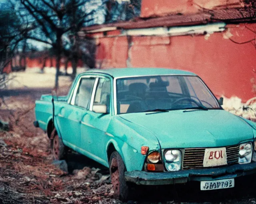
<path id="1" fill-rule="evenodd" d="M 206 148 L 204 151 L 204 167 L 227 165 L 226 147 Z"/>

